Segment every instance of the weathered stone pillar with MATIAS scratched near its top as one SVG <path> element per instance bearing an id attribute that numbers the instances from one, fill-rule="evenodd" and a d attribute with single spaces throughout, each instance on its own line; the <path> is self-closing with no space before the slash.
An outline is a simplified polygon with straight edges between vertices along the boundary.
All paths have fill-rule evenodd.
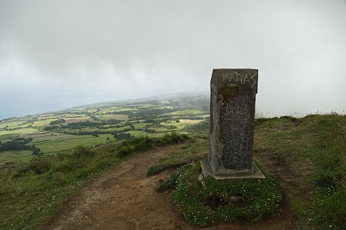
<path id="1" fill-rule="evenodd" d="M 204 175 L 217 179 L 264 178 L 253 164 L 253 135 L 258 70 L 212 70 L 210 137 Z"/>

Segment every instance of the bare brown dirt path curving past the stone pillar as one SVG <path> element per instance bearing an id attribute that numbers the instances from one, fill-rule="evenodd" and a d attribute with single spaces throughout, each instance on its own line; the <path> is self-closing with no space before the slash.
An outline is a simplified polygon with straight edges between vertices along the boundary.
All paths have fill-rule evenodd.
<path id="1" fill-rule="evenodd" d="M 69 198 L 44 229 L 200 229 L 184 222 L 169 191 L 154 190 L 158 180 L 172 171 L 145 177 L 148 166 L 180 147 L 157 148 L 121 162 L 114 171 L 100 175 Z M 259 226 L 220 223 L 203 229 L 292 229 L 287 205 L 277 213 Z"/>

